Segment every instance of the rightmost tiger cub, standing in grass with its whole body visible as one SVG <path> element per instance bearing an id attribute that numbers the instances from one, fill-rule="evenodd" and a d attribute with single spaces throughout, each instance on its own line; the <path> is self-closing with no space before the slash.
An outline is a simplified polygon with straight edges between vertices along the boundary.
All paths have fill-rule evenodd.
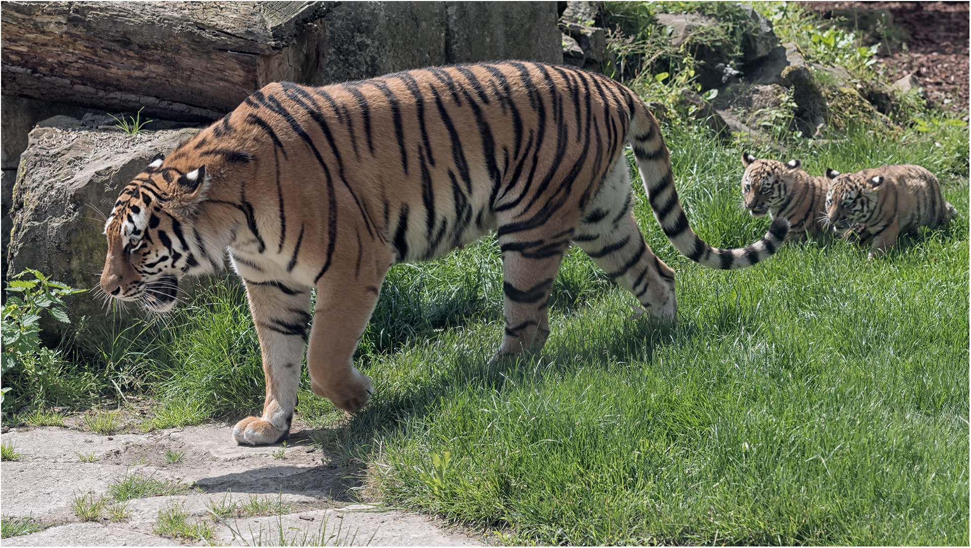
<path id="1" fill-rule="evenodd" d="M 871 243 L 869 257 L 881 257 L 901 230 L 940 226 L 956 212 L 944 201 L 941 186 L 920 165 L 885 165 L 856 173 L 826 169 L 826 223 L 845 234 L 860 225 L 861 244 Z"/>

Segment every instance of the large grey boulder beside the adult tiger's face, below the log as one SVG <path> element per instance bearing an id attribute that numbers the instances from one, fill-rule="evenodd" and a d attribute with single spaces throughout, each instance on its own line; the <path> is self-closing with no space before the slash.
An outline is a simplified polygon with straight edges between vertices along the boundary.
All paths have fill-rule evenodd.
<path id="1" fill-rule="evenodd" d="M 126 135 L 85 129 L 81 120 L 68 117 L 41 122 L 20 156 L 7 275 L 36 268 L 54 280 L 92 290 L 67 299 L 71 319 L 78 325 L 86 317 L 91 333 L 108 325 L 111 317 L 97 289 L 108 251 L 105 219 L 121 188 L 153 155 L 172 151 L 196 132 Z"/>

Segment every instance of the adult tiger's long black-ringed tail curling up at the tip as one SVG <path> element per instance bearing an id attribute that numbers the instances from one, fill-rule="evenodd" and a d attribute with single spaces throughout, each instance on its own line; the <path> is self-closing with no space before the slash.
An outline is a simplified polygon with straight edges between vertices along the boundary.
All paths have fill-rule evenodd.
<path id="1" fill-rule="evenodd" d="M 632 102 L 633 113 L 627 139 L 637 158 L 637 167 L 654 218 L 675 249 L 702 266 L 720 270 L 748 268 L 775 254 L 789 231 L 786 219 L 773 221 L 762 239 L 744 249 L 713 248 L 691 230 L 685 210 L 678 200 L 678 191 L 674 188 L 671 158 L 657 121 L 640 99 L 634 97 Z"/>

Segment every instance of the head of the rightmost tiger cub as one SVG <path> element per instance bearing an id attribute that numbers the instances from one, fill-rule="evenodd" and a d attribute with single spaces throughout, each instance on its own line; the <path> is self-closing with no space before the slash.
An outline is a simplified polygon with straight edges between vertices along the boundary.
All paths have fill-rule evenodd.
<path id="1" fill-rule="evenodd" d="M 877 208 L 884 177 L 864 177 L 859 173 L 840 173 L 826 169 L 826 221 L 833 231 L 845 234 L 854 224 L 866 223 Z"/>

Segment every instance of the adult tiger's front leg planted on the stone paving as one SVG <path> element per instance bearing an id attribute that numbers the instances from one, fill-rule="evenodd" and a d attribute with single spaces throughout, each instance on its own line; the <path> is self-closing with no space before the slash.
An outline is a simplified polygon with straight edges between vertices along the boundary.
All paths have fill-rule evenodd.
<path id="1" fill-rule="evenodd" d="M 259 335 L 266 400 L 261 417 L 236 423 L 233 439 L 240 445 L 271 445 L 289 433 L 296 407 L 310 322 L 310 290 L 281 282 L 244 281 Z"/>

